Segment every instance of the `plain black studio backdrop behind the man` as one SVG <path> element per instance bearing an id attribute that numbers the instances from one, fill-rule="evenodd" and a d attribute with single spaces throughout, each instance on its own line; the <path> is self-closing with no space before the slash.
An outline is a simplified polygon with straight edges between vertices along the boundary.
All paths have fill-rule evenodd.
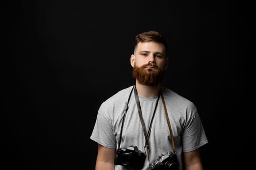
<path id="1" fill-rule="evenodd" d="M 209 140 L 201 148 L 205 170 L 250 164 L 255 135 L 240 107 L 250 27 L 237 1 L 5 3 L 4 170 L 93 170 L 98 145 L 89 137 L 98 108 L 134 85 L 134 37 L 150 30 L 169 43 L 163 85 L 197 106 Z"/>

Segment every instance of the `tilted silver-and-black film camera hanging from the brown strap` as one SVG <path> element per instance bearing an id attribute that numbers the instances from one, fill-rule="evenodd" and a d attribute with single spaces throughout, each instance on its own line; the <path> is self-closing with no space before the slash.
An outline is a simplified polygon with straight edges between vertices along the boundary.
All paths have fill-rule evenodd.
<path id="1" fill-rule="evenodd" d="M 149 164 L 151 170 L 179 170 L 176 154 L 169 151 Z"/>

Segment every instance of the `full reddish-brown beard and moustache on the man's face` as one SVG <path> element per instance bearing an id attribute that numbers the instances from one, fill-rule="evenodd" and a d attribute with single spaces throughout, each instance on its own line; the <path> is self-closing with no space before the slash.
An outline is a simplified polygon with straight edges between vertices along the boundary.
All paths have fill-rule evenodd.
<path id="1" fill-rule="evenodd" d="M 152 66 L 154 68 L 146 68 Z M 142 85 L 153 86 L 160 83 L 164 75 L 164 69 L 158 68 L 155 64 L 148 63 L 141 67 L 134 64 L 133 78 L 137 79 Z"/>

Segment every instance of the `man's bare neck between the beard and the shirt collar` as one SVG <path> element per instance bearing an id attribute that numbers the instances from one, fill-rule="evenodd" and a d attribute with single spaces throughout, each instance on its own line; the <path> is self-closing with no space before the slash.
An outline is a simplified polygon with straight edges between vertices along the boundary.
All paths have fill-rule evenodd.
<path id="1" fill-rule="evenodd" d="M 140 97 L 146 97 L 146 98 L 157 96 L 161 88 L 160 83 L 158 83 L 157 85 L 148 86 L 148 85 L 140 84 L 138 80 L 136 80 L 135 86 L 136 86 L 138 95 Z"/>

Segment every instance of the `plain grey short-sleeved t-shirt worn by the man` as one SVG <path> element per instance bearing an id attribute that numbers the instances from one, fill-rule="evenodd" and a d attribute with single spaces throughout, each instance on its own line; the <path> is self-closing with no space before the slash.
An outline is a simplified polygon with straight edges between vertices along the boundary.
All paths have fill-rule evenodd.
<path id="1" fill-rule="evenodd" d="M 102 103 L 98 110 L 97 119 L 91 135 L 91 139 L 107 148 L 118 148 L 118 140 L 121 131 L 122 118 L 129 94 L 133 86 L 123 89 Z M 182 169 L 182 152 L 193 151 L 208 143 L 197 108 L 188 99 L 165 88 L 164 101 L 174 136 L 177 159 Z M 148 130 L 158 96 L 144 98 L 139 97 L 143 119 Z M 145 137 L 139 119 L 138 109 L 134 97 L 131 94 L 128 103 L 125 122 L 122 132 L 120 148 L 137 146 L 144 152 Z M 152 122 L 149 136 L 150 162 L 156 160 L 159 155 L 173 151 L 170 131 L 166 121 L 165 111 L 161 98 L 159 99 L 156 113 Z M 149 170 L 148 158 L 142 170 Z M 131 170 L 117 165 L 115 170 Z"/>

